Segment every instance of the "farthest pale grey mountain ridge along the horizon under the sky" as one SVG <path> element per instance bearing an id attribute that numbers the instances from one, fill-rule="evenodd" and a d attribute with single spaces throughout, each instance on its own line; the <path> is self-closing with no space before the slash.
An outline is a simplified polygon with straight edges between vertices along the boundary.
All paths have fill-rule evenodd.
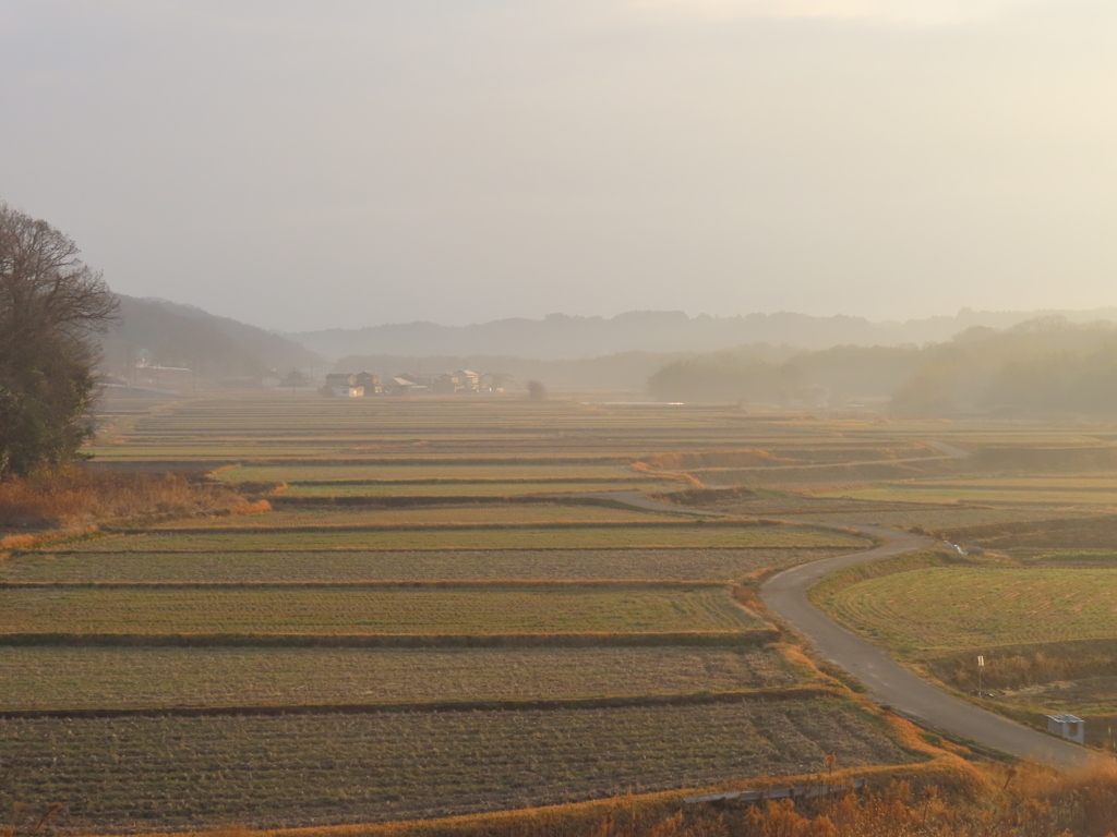
<path id="1" fill-rule="evenodd" d="M 626 352 L 716 352 L 752 344 L 822 349 L 831 346 L 923 345 L 948 340 L 973 326 L 1009 328 L 1024 320 L 1061 315 L 1075 323 L 1117 321 L 1117 308 L 1087 311 L 974 311 L 904 323 L 865 317 L 747 314 L 689 317 L 682 311 L 629 311 L 615 317 L 513 318 L 470 326 L 408 323 L 366 328 L 290 333 L 286 336 L 336 359 L 353 355 L 510 356 L 537 360 L 598 357 Z"/>

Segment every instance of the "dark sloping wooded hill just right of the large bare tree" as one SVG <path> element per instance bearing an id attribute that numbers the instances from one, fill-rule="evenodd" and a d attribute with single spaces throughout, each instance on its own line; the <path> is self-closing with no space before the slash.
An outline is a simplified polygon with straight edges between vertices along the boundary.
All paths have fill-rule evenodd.
<path id="1" fill-rule="evenodd" d="M 262 328 L 162 299 L 118 298 L 120 321 L 102 340 L 103 365 L 111 373 L 122 374 L 137 360 L 184 366 L 214 381 L 325 367 L 300 344 Z"/>

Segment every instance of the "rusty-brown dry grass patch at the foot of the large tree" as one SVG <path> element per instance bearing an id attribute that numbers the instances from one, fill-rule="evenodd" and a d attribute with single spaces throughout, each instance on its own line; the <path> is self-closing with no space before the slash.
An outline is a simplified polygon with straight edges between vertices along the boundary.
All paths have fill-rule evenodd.
<path id="1" fill-rule="evenodd" d="M 203 511 L 267 511 L 267 501 L 249 503 L 232 487 L 179 474 L 111 474 L 71 468 L 0 482 L 0 536 L 75 529 L 121 519 L 147 519 Z M 9 535 L 0 548 L 27 546 L 27 536 Z"/>

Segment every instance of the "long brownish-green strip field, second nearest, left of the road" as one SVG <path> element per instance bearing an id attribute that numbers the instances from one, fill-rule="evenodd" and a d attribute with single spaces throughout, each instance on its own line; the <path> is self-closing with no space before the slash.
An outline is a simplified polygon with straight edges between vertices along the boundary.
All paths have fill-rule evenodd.
<path id="1" fill-rule="evenodd" d="M 99 710 L 586 699 L 791 686 L 741 648 L 98 648 L 0 646 L 0 708 Z"/>

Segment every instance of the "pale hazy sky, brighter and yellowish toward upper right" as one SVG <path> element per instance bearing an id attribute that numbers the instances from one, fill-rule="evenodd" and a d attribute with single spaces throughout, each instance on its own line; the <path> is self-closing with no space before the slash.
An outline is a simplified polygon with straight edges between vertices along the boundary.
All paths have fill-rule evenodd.
<path id="1" fill-rule="evenodd" d="M 273 328 L 1117 305 L 1114 0 L 0 0 L 0 200 Z"/>

